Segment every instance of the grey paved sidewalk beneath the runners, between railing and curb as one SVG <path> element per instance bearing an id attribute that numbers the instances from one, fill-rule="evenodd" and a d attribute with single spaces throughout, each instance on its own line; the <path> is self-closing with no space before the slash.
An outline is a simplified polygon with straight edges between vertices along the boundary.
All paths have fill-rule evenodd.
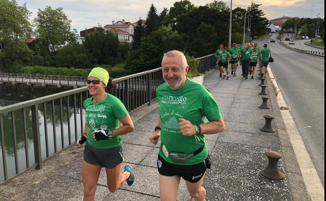
<path id="1" fill-rule="evenodd" d="M 205 136 L 212 159 L 212 168 L 207 169 L 203 183 L 207 191 L 206 201 L 309 200 L 271 81 L 266 80 L 266 89 L 270 96 L 267 103 L 271 108 L 260 109 L 258 106 L 262 103 L 262 95 L 258 94 L 261 87 L 258 86 L 260 80 L 256 77 L 257 74 L 255 79 L 244 80 L 241 67 L 237 77 L 232 76 L 230 80 L 219 78 L 217 69 L 205 74 L 203 85 L 210 89 L 215 97 L 226 124 L 223 133 Z M 277 130 L 275 133 L 259 130 L 265 123 L 265 114 L 275 116 L 272 122 L 272 126 Z M 107 189 L 105 170 L 102 169 L 96 189 L 95 199 L 98 201 L 159 200 L 156 168 L 159 144 L 155 146 L 148 141 L 157 122 L 157 102 L 132 112 L 131 117 L 135 131 L 124 136 L 123 152 L 126 161 L 123 166 L 129 164 L 133 167 L 135 182 L 130 187 L 125 184 L 116 193 L 110 193 Z M 284 156 L 278 163 L 279 169 L 285 174 L 283 180 L 266 179 L 260 174 L 260 170 L 268 164 L 265 151 L 270 150 L 279 151 Z M 62 160 L 60 157 L 66 159 Z M 19 201 L 82 200 L 82 150 L 70 148 L 47 163 L 58 163 L 62 168 L 53 168 L 51 174 L 44 176 L 40 182 L 32 182 L 28 191 L 21 189 L 27 189 L 26 185 L 17 184 L 19 177 L 14 179 L 7 187 L 0 187 L 2 200 L 9 200 L 9 197 L 15 195 Z M 46 166 L 45 164 L 45 170 L 34 170 L 31 175 L 37 174 L 37 171 L 40 171 L 39 174 L 42 174 L 41 171 L 49 171 Z M 26 182 L 33 179 L 31 175 L 25 177 Z M 187 201 L 189 198 L 185 182 L 182 180 L 178 200 Z"/>

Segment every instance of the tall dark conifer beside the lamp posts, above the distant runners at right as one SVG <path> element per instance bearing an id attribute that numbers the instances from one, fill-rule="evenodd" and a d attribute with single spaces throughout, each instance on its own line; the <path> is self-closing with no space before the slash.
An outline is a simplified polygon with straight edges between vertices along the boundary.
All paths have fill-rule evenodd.
<path id="1" fill-rule="evenodd" d="M 250 15 L 253 17 L 251 18 L 251 32 L 250 35 L 254 38 L 255 36 L 262 36 L 268 34 L 269 21 L 264 16 L 264 13 L 261 9 L 259 9 L 261 4 L 251 3 L 250 5 Z"/>

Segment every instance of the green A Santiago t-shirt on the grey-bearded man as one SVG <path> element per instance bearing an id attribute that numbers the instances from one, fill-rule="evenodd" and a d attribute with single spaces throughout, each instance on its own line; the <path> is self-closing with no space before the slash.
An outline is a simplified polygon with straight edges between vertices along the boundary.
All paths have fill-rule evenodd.
<path id="1" fill-rule="evenodd" d="M 203 134 L 184 136 L 180 131 L 179 118 L 190 121 L 193 125 L 208 121 L 217 121 L 222 115 L 219 107 L 207 88 L 187 78 L 185 85 L 178 90 L 171 90 L 167 83 L 161 84 L 156 91 L 161 121 L 161 146 L 159 155 L 169 163 L 195 165 L 203 162 L 208 155 Z M 162 152 L 162 145 L 171 152 L 192 153 L 201 146 L 203 151 L 185 163 L 176 163 Z"/>

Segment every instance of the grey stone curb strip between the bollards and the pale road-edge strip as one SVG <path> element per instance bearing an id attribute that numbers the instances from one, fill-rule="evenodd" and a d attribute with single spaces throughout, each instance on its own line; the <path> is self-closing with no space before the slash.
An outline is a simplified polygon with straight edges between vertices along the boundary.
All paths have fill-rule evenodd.
<path id="1" fill-rule="evenodd" d="M 270 67 L 269 67 L 270 69 Z M 286 179 L 289 184 L 290 199 L 293 201 L 310 201 L 309 194 L 307 192 L 306 186 L 304 184 L 304 179 L 300 171 L 300 166 L 295 156 L 292 143 L 289 138 L 288 130 L 285 127 L 285 123 L 282 118 L 281 110 L 278 107 L 278 102 L 276 95 L 274 93 L 274 88 L 272 85 L 272 79 L 267 74 L 267 86 L 269 97 L 272 102 L 272 108 L 276 120 L 276 116 L 281 117 L 281 121 L 276 120 L 276 128 L 278 132 L 278 137 L 280 140 L 280 148 L 283 155 Z"/>

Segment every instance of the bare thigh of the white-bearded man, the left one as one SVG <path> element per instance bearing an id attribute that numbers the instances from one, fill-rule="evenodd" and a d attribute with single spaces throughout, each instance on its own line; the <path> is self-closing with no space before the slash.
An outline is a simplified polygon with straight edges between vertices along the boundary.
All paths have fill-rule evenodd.
<path id="1" fill-rule="evenodd" d="M 179 176 L 163 176 L 158 174 L 161 201 L 177 200 Z"/>

